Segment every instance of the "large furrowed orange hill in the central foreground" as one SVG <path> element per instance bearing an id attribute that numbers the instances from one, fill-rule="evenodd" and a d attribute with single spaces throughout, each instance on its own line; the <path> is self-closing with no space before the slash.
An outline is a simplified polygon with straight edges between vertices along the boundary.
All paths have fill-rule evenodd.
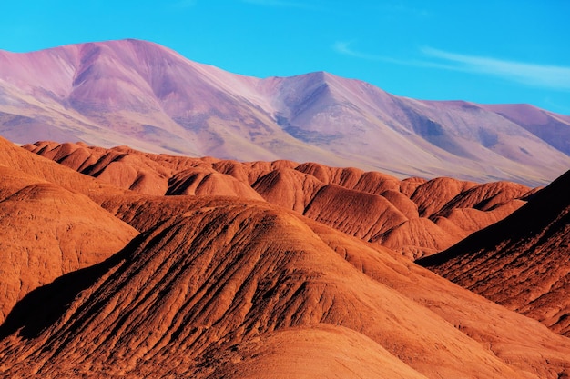
<path id="1" fill-rule="evenodd" d="M 317 338 L 354 344 L 336 363 L 352 362 L 341 369 L 349 377 L 353 367 L 368 377 L 555 378 L 570 367 L 565 338 L 388 250 L 267 203 L 183 197 L 148 198 L 163 201 L 168 221 L 94 267 L 98 274 L 43 288 L 38 298 L 94 276 L 56 322 L 26 329 L 36 306 L 27 302 L 24 329 L 0 342 L 0 370 L 226 377 L 243 369 L 265 377 L 282 352 L 293 357 L 281 360 L 283 373 L 327 377 L 330 354 L 339 354 L 331 347 L 318 353 L 322 361 L 295 365 L 320 346 Z M 462 311 L 472 306 L 481 311 Z"/>

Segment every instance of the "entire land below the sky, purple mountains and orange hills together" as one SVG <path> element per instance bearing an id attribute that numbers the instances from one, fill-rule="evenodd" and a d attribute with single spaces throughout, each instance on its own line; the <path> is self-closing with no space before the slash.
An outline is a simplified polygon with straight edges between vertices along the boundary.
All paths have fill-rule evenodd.
<path id="1" fill-rule="evenodd" d="M 0 135 L 0 377 L 570 378 L 568 115 L 129 39 Z"/>

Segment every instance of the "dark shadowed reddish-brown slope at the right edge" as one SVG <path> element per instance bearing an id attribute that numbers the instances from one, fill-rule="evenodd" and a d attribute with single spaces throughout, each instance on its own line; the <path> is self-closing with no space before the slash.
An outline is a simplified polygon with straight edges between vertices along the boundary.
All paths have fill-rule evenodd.
<path id="1" fill-rule="evenodd" d="M 570 172 L 502 222 L 420 264 L 570 336 Z"/>

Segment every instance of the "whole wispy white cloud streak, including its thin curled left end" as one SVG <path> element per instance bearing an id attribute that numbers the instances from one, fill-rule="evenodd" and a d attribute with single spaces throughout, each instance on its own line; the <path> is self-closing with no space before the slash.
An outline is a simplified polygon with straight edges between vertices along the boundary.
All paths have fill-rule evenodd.
<path id="1" fill-rule="evenodd" d="M 497 59 L 480 55 L 463 55 L 433 47 L 423 47 L 420 58 L 398 59 L 384 55 L 362 53 L 351 47 L 353 41 L 337 41 L 334 51 L 369 61 L 385 62 L 394 65 L 429 67 L 477 75 L 491 75 L 511 82 L 544 88 L 570 91 L 570 67 L 560 65 L 536 65 Z"/>

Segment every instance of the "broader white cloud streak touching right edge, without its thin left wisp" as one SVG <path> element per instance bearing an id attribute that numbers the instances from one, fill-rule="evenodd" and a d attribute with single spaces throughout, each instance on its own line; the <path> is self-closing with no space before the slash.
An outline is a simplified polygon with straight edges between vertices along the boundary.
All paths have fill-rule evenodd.
<path id="1" fill-rule="evenodd" d="M 499 76 L 524 85 L 570 90 L 570 67 L 536 65 L 488 56 L 463 55 L 432 47 L 422 48 L 422 53 L 452 65 L 453 69 L 457 71 Z"/>

